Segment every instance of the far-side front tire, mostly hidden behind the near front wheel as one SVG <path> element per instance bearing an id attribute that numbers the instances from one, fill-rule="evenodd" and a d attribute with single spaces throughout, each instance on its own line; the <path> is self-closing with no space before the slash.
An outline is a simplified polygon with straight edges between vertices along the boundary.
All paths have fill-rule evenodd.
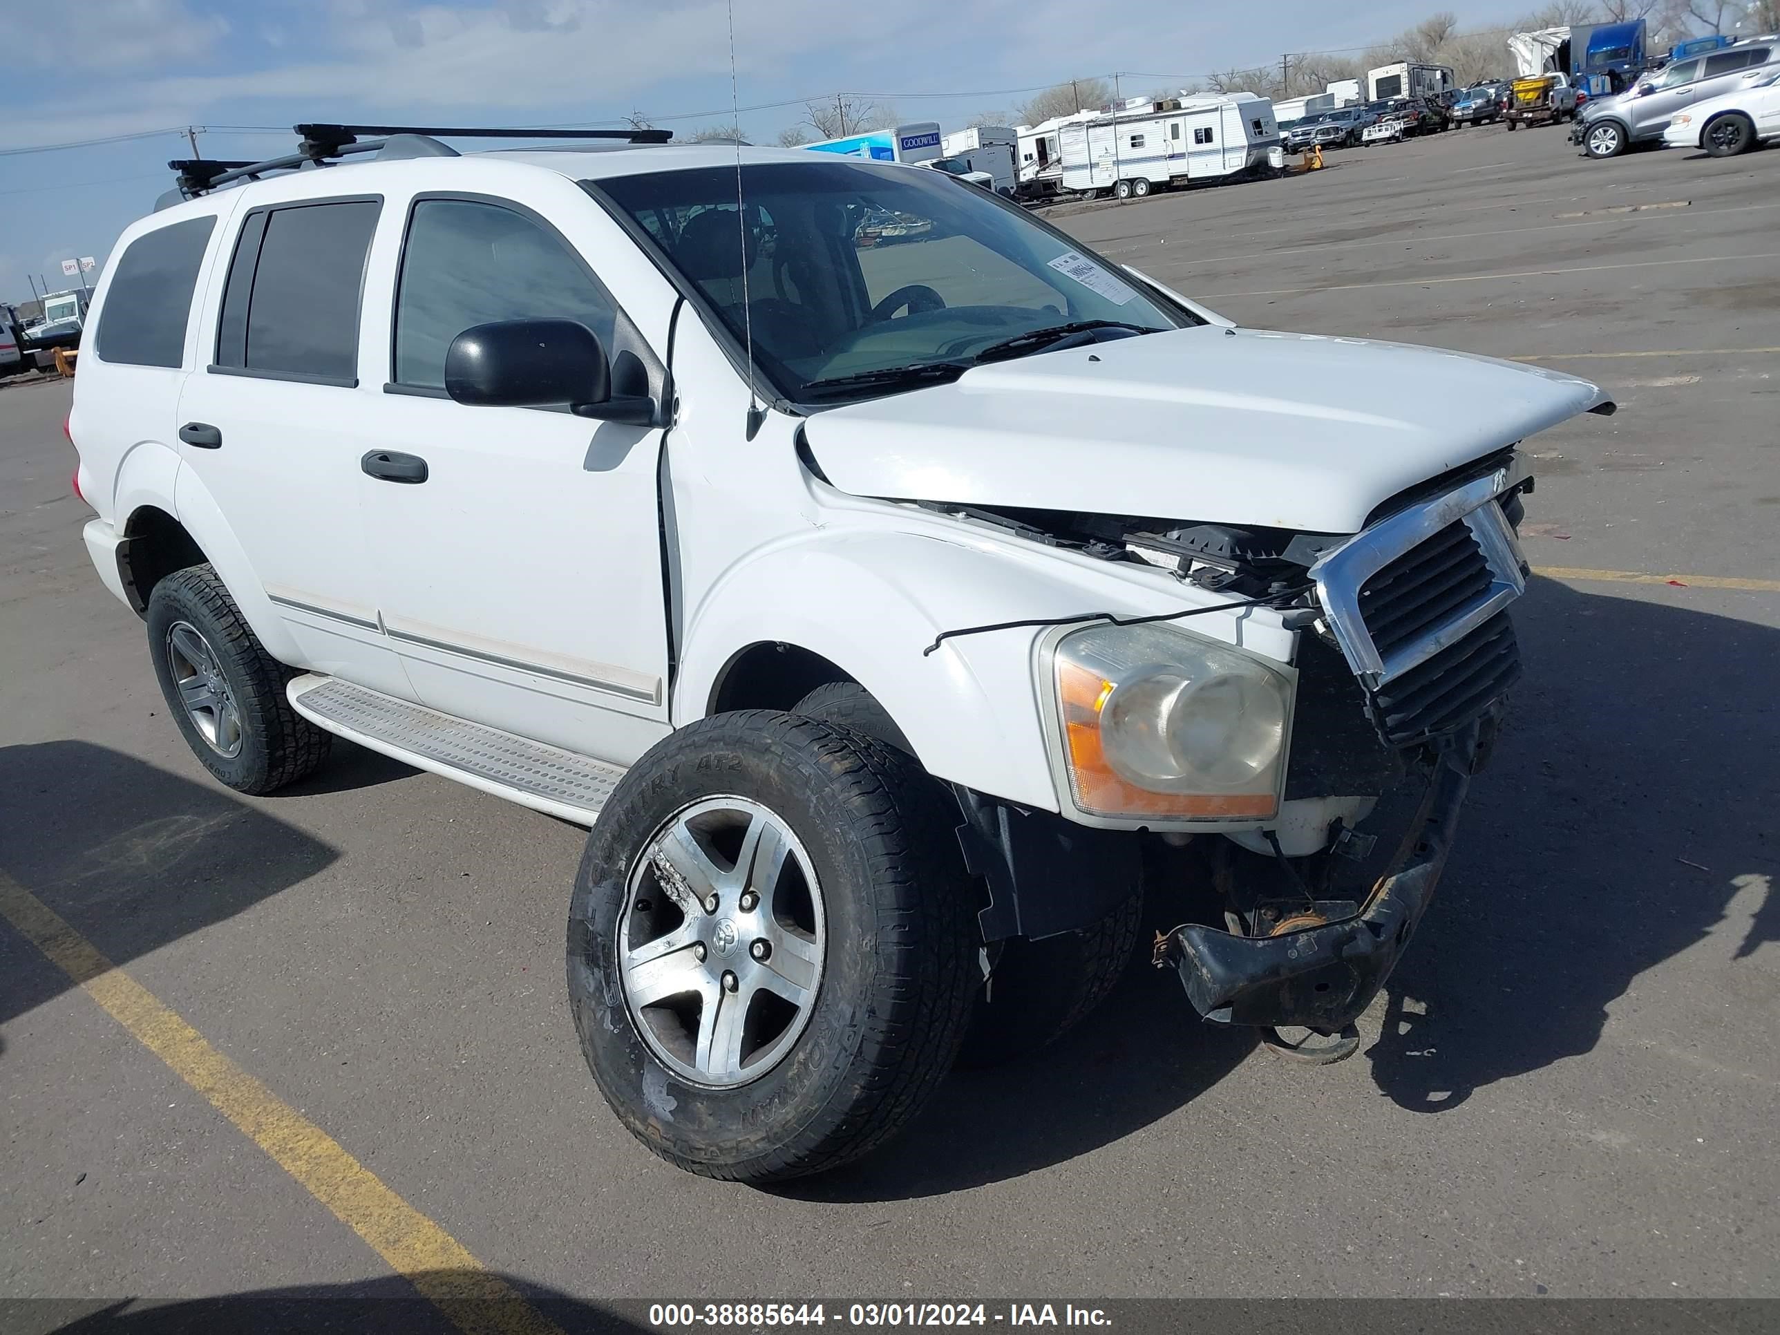
<path id="1" fill-rule="evenodd" d="M 819 685 L 796 712 L 910 749 L 895 719 L 858 682 Z M 1118 984 L 1141 931 L 1143 895 L 1136 894 L 1082 931 L 1041 942 L 1004 942 L 986 984 L 977 970 L 979 986 L 958 1064 L 999 1066 L 1063 1038 Z"/>

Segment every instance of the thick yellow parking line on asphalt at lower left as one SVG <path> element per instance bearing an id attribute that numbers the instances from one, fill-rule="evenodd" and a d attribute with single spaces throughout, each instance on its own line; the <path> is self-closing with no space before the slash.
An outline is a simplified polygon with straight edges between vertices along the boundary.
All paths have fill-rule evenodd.
<path id="1" fill-rule="evenodd" d="M 55 910 L 0 872 L 0 915 L 466 1335 L 561 1335 L 498 1274 L 338 1141 L 217 1052 Z"/>

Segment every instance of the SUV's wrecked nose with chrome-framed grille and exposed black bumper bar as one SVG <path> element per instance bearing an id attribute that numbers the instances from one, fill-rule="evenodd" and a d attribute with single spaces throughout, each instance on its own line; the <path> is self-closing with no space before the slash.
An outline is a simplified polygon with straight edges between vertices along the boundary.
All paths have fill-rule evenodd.
<path id="1" fill-rule="evenodd" d="M 1155 963 L 1175 967 L 1207 1020 L 1337 1034 L 1365 1011 L 1408 947 L 1445 869 L 1470 776 L 1488 758 L 1520 675 L 1506 609 L 1525 589 L 1515 538 L 1524 490 L 1531 479 L 1509 457 L 1413 498 L 1310 566 L 1323 612 L 1315 630 L 1333 641 L 1349 684 L 1358 684 L 1374 746 L 1424 790 L 1396 856 L 1363 899 L 1324 899 L 1312 885 L 1353 831 L 1337 824 L 1310 840 L 1326 853 L 1289 860 L 1278 833 L 1262 829 L 1285 894 L 1257 902 L 1250 892 L 1244 902 L 1241 888 L 1225 885 L 1230 931 L 1182 924 L 1159 938 Z M 1301 668 L 1312 666 L 1314 651 L 1307 644 Z M 1347 778 L 1356 762 L 1363 771 L 1371 748 L 1351 730 L 1319 737 L 1319 724 L 1340 730 L 1344 710 L 1333 703 L 1340 687 L 1328 685 L 1331 700 L 1319 708 L 1317 676 L 1307 671 L 1307 678 L 1289 783 L 1321 789 L 1319 796 L 1380 792 L 1378 771 L 1371 781 Z M 1321 773 L 1303 773 L 1301 760 Z M 1290 808 L 1287 801 L 1282 815 Z"/>

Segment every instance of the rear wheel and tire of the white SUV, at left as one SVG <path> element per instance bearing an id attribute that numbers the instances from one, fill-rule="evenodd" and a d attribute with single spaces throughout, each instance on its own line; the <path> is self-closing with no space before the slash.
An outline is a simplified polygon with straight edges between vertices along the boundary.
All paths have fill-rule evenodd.
<path id="1" fill-rule="evenodd" d="M 265 651 L 212 566 L 155 586 L 148 653 L 192 755 L 235 792 L 274 792 L 328 758 L 333 733 L 285 696 L 295 671 Z"/>

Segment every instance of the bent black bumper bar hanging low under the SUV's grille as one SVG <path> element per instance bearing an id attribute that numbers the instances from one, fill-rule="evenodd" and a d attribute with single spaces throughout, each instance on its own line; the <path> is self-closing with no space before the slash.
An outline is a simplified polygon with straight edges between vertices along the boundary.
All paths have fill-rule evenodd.
<path id="1" fill-rule="evenodd" d="M 1355 917 L 1278 936 L 1175 927 L 1161 954 L 1178 970 L 1194 1009 L 1218 1024 L 1321 1032 L 1353 1024 L 1390 977 L 1433 899 L 1476 755 L 1472 724 L 1442 749 L 1394 870 L 1378 879 Z"/>

